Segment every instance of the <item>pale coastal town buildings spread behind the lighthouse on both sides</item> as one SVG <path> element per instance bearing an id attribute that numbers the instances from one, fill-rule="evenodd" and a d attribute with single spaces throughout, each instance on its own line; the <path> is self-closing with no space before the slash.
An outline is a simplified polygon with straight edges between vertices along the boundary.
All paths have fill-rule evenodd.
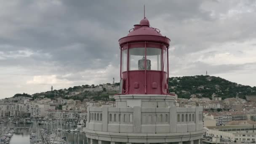
<path id="1" fill-rule="evenodd" d="M 67 90 L 65 91 L 65 97 L 76 96 L 85 91 L 114 91 L 117 93 L 118 90 L 119 86 L 115 83 L 103 84 L 96 85 L 93 88 L 84 88 L 81 91 Z M 53 92 L 53 87 L 51 87 L 50 92 Z M 251 132 L 254 131 L 254 127 L 251 128 L 250 125 L 254 126 L 256 124 L 256 96 L 245 96 L 245 99 L 242 99 L 237 94 L 234 97 L 222 99 L 221 96 L 216 94 L 213 94 L 211 98 L 191 94 L 189 99 L 184 99 L 179 98 L 177 94 L 174 94 L 175 92 L 171 93 L 175 97 L 177 108 L 203 108 L 203 126 L 207 129 L 205 141 L 255 142 L 255 134 Z M 61 125 L 72 126 L 71 130 L 63 129 L 63 131 L 80 131 L 82 133 L 86 126 L 88 107 L 116 107 L 114 95 L 109 95 L 108 99 L 105 100 L 96 100 L 93 99 L 93 96 L 88 96 L 81 101 L 62 97 L 50 99 L 46 98 L 43 93 L 40 94 L 36 99 L 33 98 L 33 95 L 31 97 L 17 96 L 1 99 L 0 123 L 8 121 L 32 124 L 36 121 L 39 125 L 48 125 L 61 121 Z M 181 122 L 186 122 L 188 118 L 182 115 L 179 119 Z M 230 129 L 231 132 L 229 132 Z M 42 131 L 47 133 L 46 130 Z M 236 134 L 232 131 L 236 131 Z M 248 132 L 252 134 L 248 134 Z M 12 133 L 13 130 L 8 134 L 4 133 L 3 137 L 10 137 Z M 244 135 L 243 133 L 247 134 Z"/>

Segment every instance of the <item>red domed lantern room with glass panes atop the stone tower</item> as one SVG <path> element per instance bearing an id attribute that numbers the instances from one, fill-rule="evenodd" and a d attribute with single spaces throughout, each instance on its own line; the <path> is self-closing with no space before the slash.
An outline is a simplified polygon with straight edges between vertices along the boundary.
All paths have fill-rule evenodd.
<path id="1" fill-rule="evenodd" d="M 120 93 L 168 94 L 170 39 L 150 27 L 147 18 L 135 24 L 119 40 L 121 50 Z"/>

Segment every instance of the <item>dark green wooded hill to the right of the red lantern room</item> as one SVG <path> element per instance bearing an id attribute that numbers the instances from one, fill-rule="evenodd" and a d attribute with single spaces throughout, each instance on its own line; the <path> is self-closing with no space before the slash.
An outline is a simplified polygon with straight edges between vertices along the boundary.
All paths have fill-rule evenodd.
<path id="1" fill-rule="evenodd" d="M 171 77 L 168 80 L 169 91 L 178 94 L 179 98 L 187 98 L 192 94 L 197 97 L 207 97 L 211 99 L 213 94 L 226 99 L 235 97 L 240 98 L 246 95 L 256 95 L 256 87 L 232 83 L 221 77 L 209 75 L 196 75 L 185 77 Z"/>

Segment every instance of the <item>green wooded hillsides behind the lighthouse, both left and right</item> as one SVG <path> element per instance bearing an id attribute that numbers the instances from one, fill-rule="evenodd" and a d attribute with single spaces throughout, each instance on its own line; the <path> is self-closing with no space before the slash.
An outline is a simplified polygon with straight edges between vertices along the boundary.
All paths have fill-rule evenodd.
<path id="1" fill-rule="evenodd" d="M 119 83 L 106 85 L 112 85 L 113 87 L 119 86 Z M 246 95 L 256 95 L 256 87 L 251 87 L 248 85 L 240 85 L 237 83 L 232 83 L 221 77 L 214 77 L 209 75 L 196 75 L 196 76 L 184 76 L 184 77 L 171 77 L 168 79 L 169 92 L 178 94 L 179 98 L 189 99 L 190 96 L 196 95 L 197 97 L 207 97 L 210 98 L 212 95 L 218 95 L 222 99 L 229 97 L 235 97 L 237 94 L 240 98 L 245 98 Z M 86 88 L 97 88 L 102 85 L 82 85 L 74 86 L 73 88 L 64 88 L 60 90 L 47 91 L 43 93 L 35 93 L 32 96 L 23 93 L 16 94 L 17 96 L 32 97 L 33 99 L 39 98 L 41 96 L 55 99 L 57 97 L 62 97 L 64 99 L 93 99 L 93 100 L 109 100 L 109 95 L 118 93 L 118 91 L 107 90 L 103 87 L 102 91 L 83 91 Z M 68 96 L 69 92 L 81 92 L 79 94 Z"/>

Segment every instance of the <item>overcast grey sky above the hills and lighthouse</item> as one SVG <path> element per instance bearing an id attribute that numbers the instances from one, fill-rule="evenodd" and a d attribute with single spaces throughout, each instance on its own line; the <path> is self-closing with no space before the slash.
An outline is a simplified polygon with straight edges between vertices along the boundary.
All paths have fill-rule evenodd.
<path id="1" fill-rule="evenodd" d="M 119 81 L 118 39 L 146 17 L 171 76 L 256 86 L 255 0 L 0 0 L 0 98 Z"/>

